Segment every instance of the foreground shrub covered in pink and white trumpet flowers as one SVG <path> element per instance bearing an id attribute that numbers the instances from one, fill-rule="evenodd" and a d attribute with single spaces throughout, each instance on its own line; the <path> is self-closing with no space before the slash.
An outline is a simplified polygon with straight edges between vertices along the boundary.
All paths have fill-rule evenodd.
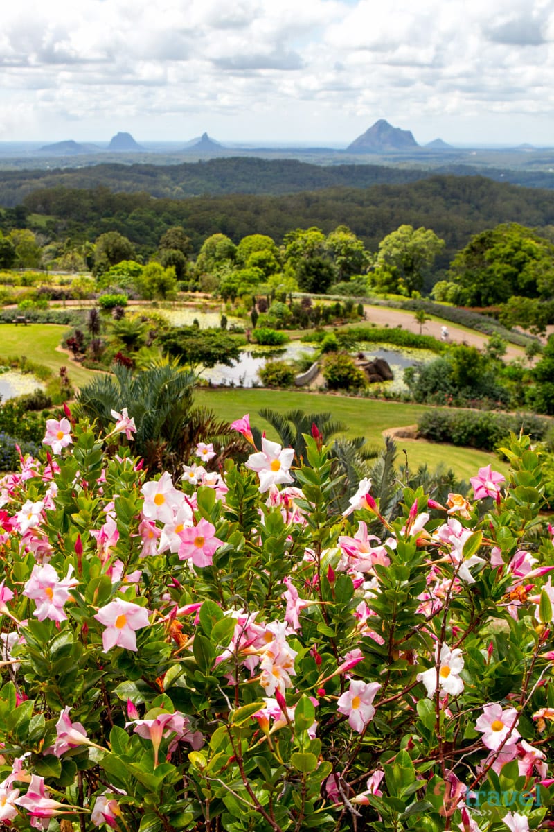
<path id="1" fill-rule="evenodd" d="M 126 410 L 103 438 L 66 415 L 0 482 L 2 825 L 546 822 L 554 567 L 529 440 L 510 483 L 405 489 L 389 522 L 368 480 L 336 512 L 316 430 L 302 465 L 264 438 L 175 484 L 130 455 Z"/>

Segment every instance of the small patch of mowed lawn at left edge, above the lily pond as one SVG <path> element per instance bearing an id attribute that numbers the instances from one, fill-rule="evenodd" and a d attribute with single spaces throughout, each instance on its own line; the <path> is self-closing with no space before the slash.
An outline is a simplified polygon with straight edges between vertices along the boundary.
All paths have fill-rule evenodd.
<path id="1" fill-rule="evenodd" d="M 66 333 L 69 333 L 69 327 L 60 324 L 0 324 L 0 358 L 25 355 L 37 364 L 44 364 L 55 375 L 60 372 L 60 367 L 66 367 L 71 384 L 81 387 L 95 374 L 71 362 L 66 354 L 56 351 Z"/>

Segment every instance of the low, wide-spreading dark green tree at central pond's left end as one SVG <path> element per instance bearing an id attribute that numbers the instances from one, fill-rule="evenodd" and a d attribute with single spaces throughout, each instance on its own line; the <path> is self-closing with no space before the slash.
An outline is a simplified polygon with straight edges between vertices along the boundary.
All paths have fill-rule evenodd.
<path id="1" fill-rule="evenodd" d="M 199 329 L 196 326 L 174 327 L 156 339 L 164 352 L 190 369 L 211 368 L 215 364 L 232 367 L 240 355 L 240 344 L 221 329 Z"/>

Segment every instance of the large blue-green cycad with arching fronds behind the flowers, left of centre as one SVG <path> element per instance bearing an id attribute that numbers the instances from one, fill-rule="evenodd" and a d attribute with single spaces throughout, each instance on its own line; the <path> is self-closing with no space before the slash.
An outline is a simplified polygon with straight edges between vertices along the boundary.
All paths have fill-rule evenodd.
<path id="1" fill-rule="evenodd" d="M 133 450 L 150 471 L 166 469 L 178 475 L 199 441 L 217 443 L 220 453 L 213 463 L 230 453 L 243 453 L 243 440 L 234 438 L 228 423 L 210 411 L 194 409 L 196 377 L 177 361 L 154 360 L 139 372 L 115 364 L 112 373 L 81 388 L 76 416 L 96 420 L 101 432 L 108 433 L 114 425 L 111 411 L 127 408 L 136 425 Z"/>

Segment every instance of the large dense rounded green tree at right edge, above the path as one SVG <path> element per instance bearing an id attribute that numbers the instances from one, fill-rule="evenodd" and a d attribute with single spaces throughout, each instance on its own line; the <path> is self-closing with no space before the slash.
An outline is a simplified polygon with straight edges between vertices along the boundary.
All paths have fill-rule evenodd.
<path id="1" fill-rule="evenodd" d="M 554 295 L 554 244 L 530 228 L 505 223 L 472 237 L 450 264 L 466 304 L 507 303 L 513 295 Z"/>

